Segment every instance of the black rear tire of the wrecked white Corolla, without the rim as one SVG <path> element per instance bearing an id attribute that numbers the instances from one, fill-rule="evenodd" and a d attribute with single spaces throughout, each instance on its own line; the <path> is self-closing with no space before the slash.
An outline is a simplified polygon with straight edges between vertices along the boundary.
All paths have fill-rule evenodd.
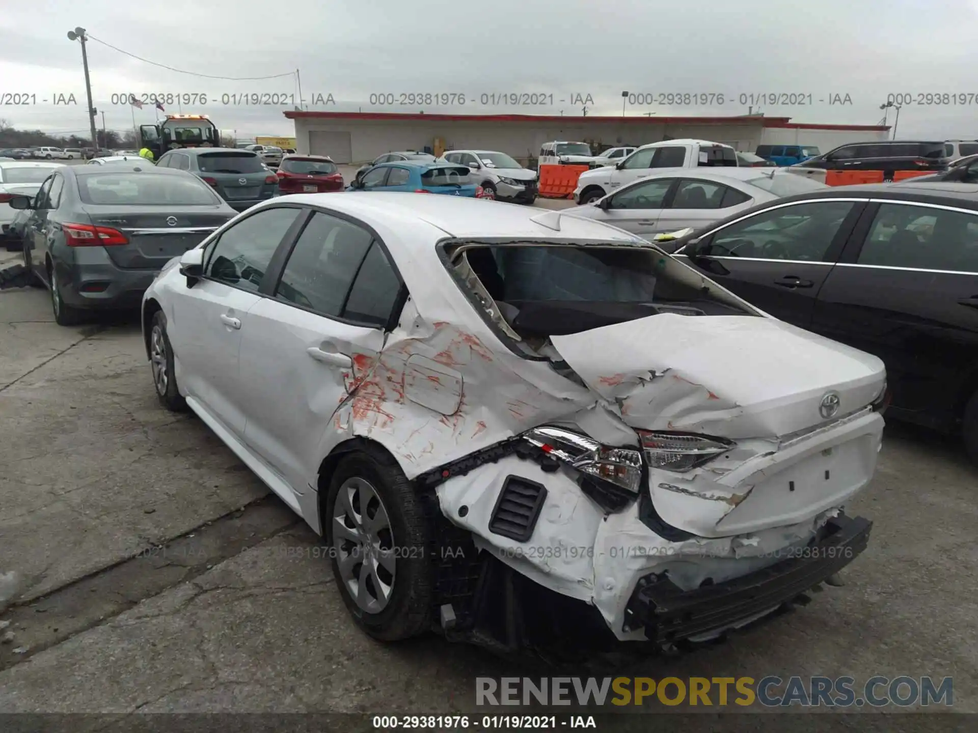
<path id="1" fill-rule="evenodd" d="M 342 580 L 334 543 L 333 510 L 340 488 L 350 479 L 365 479 L 376 490 L 390 520 L 390 546 L 395 575 L 387 605 L 377 614 L 361 609 Z M 326 496 L 324 536 L 333 566 L 333 580 L 354 621 L 380 641 L 400 641 L 431 629 L 432 579 L 428 558 L 428 525 L 414 486 L 397 462 L 378 449 L 349 453 L 336 466 Z"/>

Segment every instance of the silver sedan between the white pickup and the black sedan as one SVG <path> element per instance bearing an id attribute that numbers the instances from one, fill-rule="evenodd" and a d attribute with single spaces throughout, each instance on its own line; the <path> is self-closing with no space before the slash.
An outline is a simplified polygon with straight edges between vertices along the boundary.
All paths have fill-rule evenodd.
<path id="1" fill-rule="evenodd" d="M 759 203 L 824 188 L 822 183 L 778 169 L 723 168 L 713 172 L 694 168 L 645 176 L 565 213 L 650 238 L 688 227 L 698 229 Z"/>

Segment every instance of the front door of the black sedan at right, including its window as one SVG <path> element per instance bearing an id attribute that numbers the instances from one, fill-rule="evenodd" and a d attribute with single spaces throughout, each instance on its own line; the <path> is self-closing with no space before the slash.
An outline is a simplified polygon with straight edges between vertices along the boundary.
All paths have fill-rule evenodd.
<path id="1" fill-rule="evenodd" d="M 693 267 L 748 303 L 807 328 L 864 205 L 845 198 L 778 204 L 690 242 L 683 252 Z"/>

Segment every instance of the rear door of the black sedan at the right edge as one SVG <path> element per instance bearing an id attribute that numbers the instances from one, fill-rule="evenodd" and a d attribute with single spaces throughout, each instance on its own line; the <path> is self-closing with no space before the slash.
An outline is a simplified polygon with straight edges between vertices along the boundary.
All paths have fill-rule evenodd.
<path id="1" fill-rule="evenodd" d="M 978 383 L 978 215 L 870 204 L 822 286 L 812 329 L 882 359 L 900 416 L 953 428 Z"/>

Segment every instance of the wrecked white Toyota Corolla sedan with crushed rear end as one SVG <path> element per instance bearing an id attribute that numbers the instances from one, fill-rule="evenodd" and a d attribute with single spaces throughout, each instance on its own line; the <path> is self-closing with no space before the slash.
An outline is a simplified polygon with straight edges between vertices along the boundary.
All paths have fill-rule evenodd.
<path id="1" fill-rule="evenodd" d="M 160 402 L 324 536 L 379 639 L 672 649 L 867 545 L 882 363 L 600 222 L 281 196 L 167 264 L 143 324 Z"/>

